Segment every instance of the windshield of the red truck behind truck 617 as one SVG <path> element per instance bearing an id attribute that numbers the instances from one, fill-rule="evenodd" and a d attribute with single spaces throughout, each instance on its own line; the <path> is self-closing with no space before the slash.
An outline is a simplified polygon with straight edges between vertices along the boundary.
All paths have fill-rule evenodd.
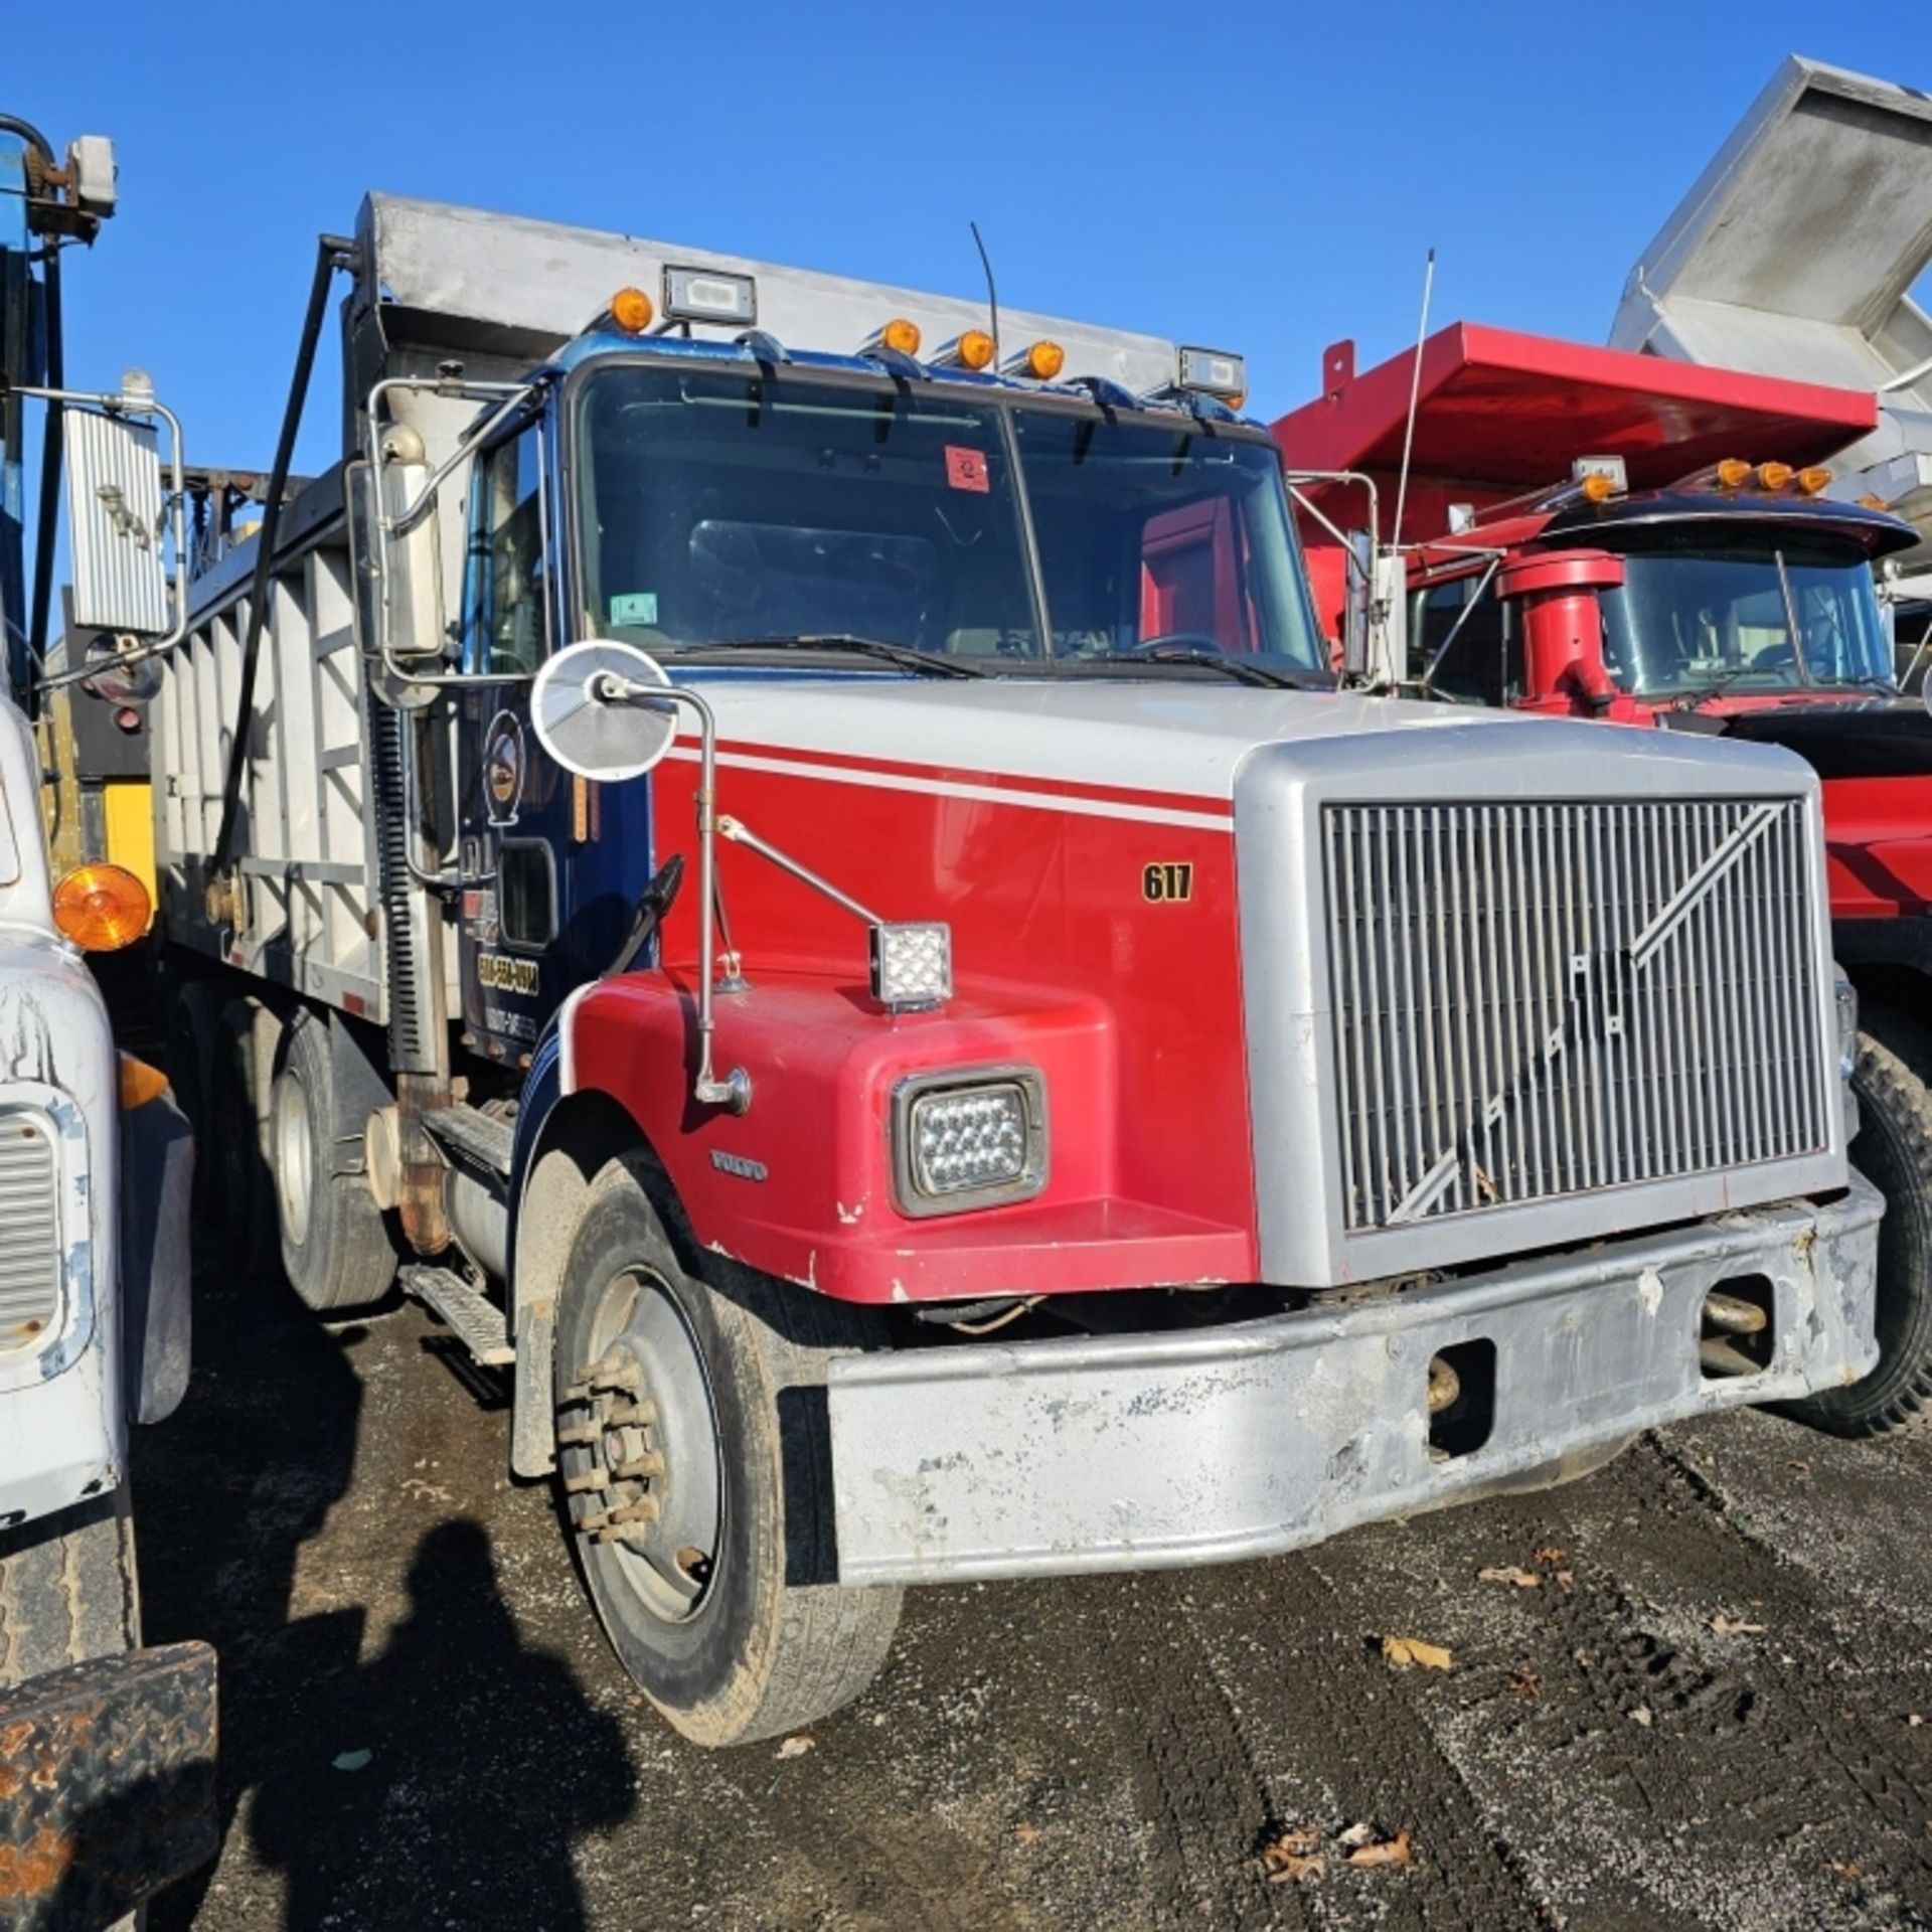
<path id="1" fill-rule="evenodd" d="M 1633 551 L 1604 595 L 1604 657 L 1638 696 L 1889 686 L 1872 568 L 1843 545 L 1777 533 Z"/>

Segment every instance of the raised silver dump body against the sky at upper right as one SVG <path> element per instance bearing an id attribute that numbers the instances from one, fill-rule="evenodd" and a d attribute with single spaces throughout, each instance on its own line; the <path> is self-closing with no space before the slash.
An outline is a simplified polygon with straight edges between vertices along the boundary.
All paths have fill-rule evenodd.
<path id="1" fill-rule="evenodd" d="M 1878 390 L 1833 493 L 1880 497 L 1932 570 L 1932 99 L 1791 56 L 1625 282 L 1611 346 Z M 1776 452 L 1766 452 L 1776 454 Z"/>

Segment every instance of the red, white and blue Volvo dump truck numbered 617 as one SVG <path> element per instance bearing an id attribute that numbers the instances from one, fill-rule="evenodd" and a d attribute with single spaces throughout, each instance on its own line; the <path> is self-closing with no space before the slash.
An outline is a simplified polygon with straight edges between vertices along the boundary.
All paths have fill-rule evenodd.
<path id="1" fill-rule="evenodd" d="M 1236 355 L 371 195 L 303 369 L 336 274 L 160 659 L 178 1039 L 688 1737 L 1870 1368 L 1816 779 L 1335 692 Z"/>

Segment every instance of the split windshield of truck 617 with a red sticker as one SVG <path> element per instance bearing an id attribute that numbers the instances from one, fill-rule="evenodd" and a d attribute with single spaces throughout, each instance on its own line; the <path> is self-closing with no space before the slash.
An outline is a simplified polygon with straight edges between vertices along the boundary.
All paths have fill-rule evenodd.
<path id="1" fill-rule="evenodd" d="M 844 636 L 989 672 L 1136 653 L 1325 668 L 1260 435 L 614 365 L 583 384 L 578 475 L 582 616 L 649 651 Z"/>

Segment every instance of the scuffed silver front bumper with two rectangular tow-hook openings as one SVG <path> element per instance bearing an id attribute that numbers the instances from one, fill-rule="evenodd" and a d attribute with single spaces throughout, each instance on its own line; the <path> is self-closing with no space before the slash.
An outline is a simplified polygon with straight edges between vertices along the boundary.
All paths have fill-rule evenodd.
<path id="1" fill-rule="evenodd" d="M 1864 1376 L 1882 1202 L 1785 1202 L 1233 1327 L 833 1362 L 842 1582 L 1273 1555 L 1714 1408 Z M 1772 1356 L 1706 1379 L 1704 1296 L 1772 1285 Z M 1435 1461 L 1428 1364 L 1495 1347 L 1486 1441 Z"/>

